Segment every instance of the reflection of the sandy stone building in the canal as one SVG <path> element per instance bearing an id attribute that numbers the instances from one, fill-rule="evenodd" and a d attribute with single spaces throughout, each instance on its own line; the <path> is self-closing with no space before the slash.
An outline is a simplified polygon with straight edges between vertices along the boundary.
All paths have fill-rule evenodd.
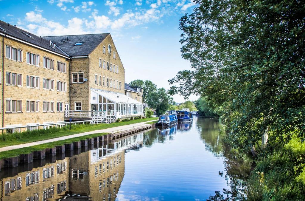
<path id="1" fill-rule="evenodd" d="M 3 178 L 0 200 L 115 200 L 124 177 L 124 151 L 142 146 L 143 133 L 138 133 Z"/>

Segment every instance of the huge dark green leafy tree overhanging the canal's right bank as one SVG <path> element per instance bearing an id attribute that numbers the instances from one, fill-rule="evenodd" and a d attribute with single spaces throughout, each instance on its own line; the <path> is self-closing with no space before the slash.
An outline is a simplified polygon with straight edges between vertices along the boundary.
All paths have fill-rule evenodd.
<path id="1" fill-rule="evenodd" d="M 236 148 L 305 140 L 305 6 L 300 0 L 195 0 L 180 19 L 182 57 L 171 94 L 218 108 Z M 268 136 L 269 134 L 269 136 Z M 268 149 L 266 149 L 267 151 Z"/>

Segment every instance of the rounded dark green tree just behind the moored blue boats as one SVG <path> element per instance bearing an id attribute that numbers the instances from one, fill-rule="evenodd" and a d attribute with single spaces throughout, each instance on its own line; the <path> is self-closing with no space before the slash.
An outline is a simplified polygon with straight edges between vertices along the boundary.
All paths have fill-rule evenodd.
<path id="1" fill-rule="evenodd" d="M 162 115 L 167 111 L 172 99 L 164 88 L 160 88 L 152 91 L 146 102 L 150 107 L 156 109 L 157 115 Z"/>

